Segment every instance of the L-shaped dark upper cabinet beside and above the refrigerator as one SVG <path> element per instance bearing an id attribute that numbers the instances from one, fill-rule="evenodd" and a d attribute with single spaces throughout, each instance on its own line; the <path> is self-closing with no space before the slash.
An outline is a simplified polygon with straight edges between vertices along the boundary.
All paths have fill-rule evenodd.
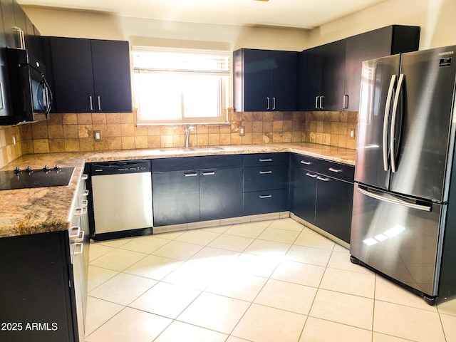
<path id="1" fill-rule="evenodd" d="M 396 53 L 418 51 L 418 26 L 391 25 L 346 39 L 344 110 L 359 109 L 361 63 Z"/>

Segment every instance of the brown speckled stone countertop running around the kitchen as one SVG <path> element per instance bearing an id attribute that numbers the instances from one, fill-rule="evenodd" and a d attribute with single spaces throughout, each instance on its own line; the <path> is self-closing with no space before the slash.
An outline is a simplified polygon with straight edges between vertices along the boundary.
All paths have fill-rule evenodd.
<path id="1" fill-rule="evenodd" d="M 108 160 L 140 160 L 196 155 L 232 155 L 267 152 L 295 152 L 334 162 L 355 165 L 355 150 L 310 143 L 281 143 L 267 145 L 229 145 L 212 147 L 162 148 L 151 150 L 118 150 L 106 152 L 71 152 L 23 155 L 0 171 L 31 166 L 41 168 L 75 167 L 70 184 L 63 187 L 0 190 L 0 237 L 14 237 L 42 232 L 68 230 L 76 202 L 85 162 Z"/>

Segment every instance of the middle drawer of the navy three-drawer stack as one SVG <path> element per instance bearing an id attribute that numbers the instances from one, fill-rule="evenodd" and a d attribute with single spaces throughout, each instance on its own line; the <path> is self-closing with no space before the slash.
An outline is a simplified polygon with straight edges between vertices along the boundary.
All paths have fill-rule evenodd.
<path id="1" fill-rule="evenodd" d="M 284 189 L 287 183 L 286 165 L 244 167 L 244 191 Z"/>

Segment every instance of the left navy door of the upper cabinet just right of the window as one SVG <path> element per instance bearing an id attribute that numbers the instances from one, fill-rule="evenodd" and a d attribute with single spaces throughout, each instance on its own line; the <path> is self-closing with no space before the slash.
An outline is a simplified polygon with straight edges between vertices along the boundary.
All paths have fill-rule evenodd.
<path id="1" fill-rule="evenodd" d="M 243 49 L 243 55 L 243 111 L 268 110 L 272 105 L 270 51 Z"/>

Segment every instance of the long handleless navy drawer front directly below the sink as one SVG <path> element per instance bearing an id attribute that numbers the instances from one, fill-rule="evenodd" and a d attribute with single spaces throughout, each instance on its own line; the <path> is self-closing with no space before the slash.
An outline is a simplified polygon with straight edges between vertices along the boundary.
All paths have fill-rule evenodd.
<path id="1" fill-rule="evenodd" d="M 242 166 L 242 155 L 204 155 L 199 157 L 175 157 L 152 159 L 152 173 L 226 169 Z"/>

